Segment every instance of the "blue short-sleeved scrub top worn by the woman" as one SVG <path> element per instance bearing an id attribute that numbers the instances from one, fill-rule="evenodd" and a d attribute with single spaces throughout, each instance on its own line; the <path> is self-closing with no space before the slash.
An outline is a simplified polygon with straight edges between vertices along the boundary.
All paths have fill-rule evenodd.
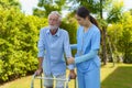
<path id="1" fill-rule="evenodd" d="M 90 51 L 98 51 L 100 47 L 100 31 L 92 24 L 87 32 L 84 31 L 84 26 L 79 26 L 77 31 L 77 54 L 76 57 L 88 54 Z M 76 58 L 75 58 L 76 59 Z M 75 62 L 77 62 L 76 59 Z M 79 58 L 81 61 L 81 58 Z M 92 58 L 88 58 L 85 62 L 76 63 L 77 69 L 81 73 L 87 73 L 95 67 L 100 66 L 100 58 L 95 55 Z"/>

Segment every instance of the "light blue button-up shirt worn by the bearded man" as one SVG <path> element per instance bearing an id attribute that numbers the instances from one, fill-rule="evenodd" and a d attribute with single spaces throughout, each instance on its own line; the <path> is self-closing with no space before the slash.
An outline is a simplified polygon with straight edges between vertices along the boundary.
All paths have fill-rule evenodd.
<path id="1" fill-rule="evenodd" d="M 52 35 L 48 28 L 42 29 L 37 47 L 37 57 L 44 57 L 44 74 L 56 76 L 66 73 L 64 53 L 66 57 L 72 57 L 67 31 L 58 29 L 56 34 Z M 69 65 L 68 68 L 74 69 L 74 65 Z"/>

